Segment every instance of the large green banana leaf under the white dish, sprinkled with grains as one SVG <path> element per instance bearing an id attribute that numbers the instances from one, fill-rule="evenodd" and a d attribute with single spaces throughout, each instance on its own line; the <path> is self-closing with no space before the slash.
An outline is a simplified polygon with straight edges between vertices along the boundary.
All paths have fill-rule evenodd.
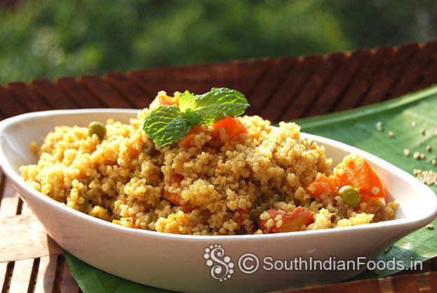
<path id="1" fill-rule="evenodd" d="M 412 174 L 413 169 L 437 171 L 437 167 L 431 164 L 432 159 L 437 157 L 437 135 L 434 133 L 437 131 L 436 115 L 437 86 L 433 86 L 377 105 L 299 119 L 295 122 L 300 124 L 303 132 L 354 145 Z M 377 129 L 378 122 L 382 122 L 382 131 Z M 388 131 L 393 131 L 394 135 L 389 136 Z M 426 145 L 430 145 L 431 150 L 426 150 Z M 410 150 L 410 156 L 404 155 L 404 149 Z M 414 152 L 424 153 L 426 158 L 414 159 Z M 437 186 L 430 187 L 437 193 Z M 437 219 L 432 223 L 437 228 Z M 168 292 L 124 280 L 93 268 L 68 252 L 64 254 L 73 277 L 84 293 Z M 396 257 L 396 261 L 403 261 L 406 267 L 413 265 L 410 270 L 426 270 L 426 266 L 421 267 L 422 262 L 435 256 L 437 229 L 424 227 L 395 242 L 388 251 L 381 252 L 375 262 L 388 262 Z M 354 280 L 381 278 L 397 272 L 396 269 L 386 269 L 377 273 L 365 271 Z"/>

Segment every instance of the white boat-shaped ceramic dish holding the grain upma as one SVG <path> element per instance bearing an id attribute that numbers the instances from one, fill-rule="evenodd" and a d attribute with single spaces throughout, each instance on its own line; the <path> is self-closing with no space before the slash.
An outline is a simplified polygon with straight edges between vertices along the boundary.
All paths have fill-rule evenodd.
<path id="1" fill-rule="evenodd" d="M 54 126 L 86 126 L 90 121 L 106 121 L 109 117 L 128 122 L 136 113 L 137 110 L 119 109 L 54 110 L 27 113 L 0 122 L 1 167 L 48 235 L 79 259 L 122 278 L 183 292 L 264 292 L 339 282 L 366 268 L 361 265 L 354 269 L 349 263 L 349 269 L 342 269 L 340 262 L 356 261 L 358 257 L 363 258 L 358 259 L 361 262 L 370 260 L 384 247 L 432 221 L 437 214 L 436 195 L 413 176 L 368 152 L 309 134 L 302 136 L 325 145 L 334 166 L 350 152 L 363 155 L 382 177 L 388 199 L 400 203 L 396 219 L 274 235 L 171 235 L 124 228 L 69 209 L 20 178 L 20 166 L 37 162 L 29 144 L 36 141 L 40 145 Z M 255 272 L 243 273 L 256 268 L 257 262 L 249 254 L 257 256 L 259 265 Z M 302 268 L 276 269 L 281 268 L 283 261 L 288 261 L 288 267 L 295 258 Z M 304 260 L 310 258 L 314 266 L 317 266 L 315 261 L 325 261 L 325 268 L 331 263 L 331 269 L 304 270 Z M 219 280 L 226 271 L 226 280 Z"/>

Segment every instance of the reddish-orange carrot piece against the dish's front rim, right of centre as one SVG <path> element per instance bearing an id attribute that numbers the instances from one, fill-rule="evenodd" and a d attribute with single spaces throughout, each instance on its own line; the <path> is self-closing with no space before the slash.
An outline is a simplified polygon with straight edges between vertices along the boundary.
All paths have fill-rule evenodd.
<path id="1" fill-rule="evenodd" d="M 260 220 L 258 224 L 263 233 L 283 233 L 283 232 L 295 232 L 305 225 L 308 226 L 314 223 L 314 211 L 311 211 L 304 207 L 297 207 L 291 214 L 281 214 L 277 209 L 269 209 L 267 212 L 270 215 L 270 219 L 273 220 L 273 226 L 267 227 L 267 221 Z M 281 219 L 277 220 L 276 216 L 281 215 Z M 277 226 L 278 221 L 282 221 L 281 226 Z"/>

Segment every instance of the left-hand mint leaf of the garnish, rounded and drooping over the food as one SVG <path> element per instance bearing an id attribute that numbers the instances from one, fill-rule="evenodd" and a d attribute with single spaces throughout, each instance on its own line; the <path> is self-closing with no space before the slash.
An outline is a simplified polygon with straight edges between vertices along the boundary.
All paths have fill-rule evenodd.
<path id="1" fill-rule="evenodd" d="M 143 129 L 159 146 L 179 141 L 193 126 L 177 105 L 161 105 L 144 119 Z"/>

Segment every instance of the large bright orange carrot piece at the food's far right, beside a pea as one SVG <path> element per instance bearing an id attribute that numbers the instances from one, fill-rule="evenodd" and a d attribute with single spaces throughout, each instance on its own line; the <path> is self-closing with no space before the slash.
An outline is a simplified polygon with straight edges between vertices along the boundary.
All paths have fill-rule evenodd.
<path id="1" fill-rule="evenodd" d="M 343 162 L 335 167 L 334 176 L 334 183 L 337 188 L 351 185 L 360 190 L 361 195 L 377 198 L 386 197 L 381 179 L 361 156 L 349 155 L 344 157 Z"/>

